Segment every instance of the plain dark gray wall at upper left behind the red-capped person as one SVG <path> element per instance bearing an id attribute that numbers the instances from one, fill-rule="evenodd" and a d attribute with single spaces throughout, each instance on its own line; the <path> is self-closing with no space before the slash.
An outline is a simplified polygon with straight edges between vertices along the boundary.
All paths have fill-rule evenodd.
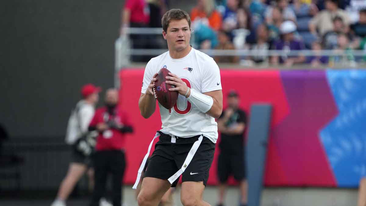
<path id="1" fill-rule="evenodd" d="M 113 86 L 123 1 L 8 0 L 0 6 L 0 123 L 11 136 L 65 133 L 80 87 Z"/>

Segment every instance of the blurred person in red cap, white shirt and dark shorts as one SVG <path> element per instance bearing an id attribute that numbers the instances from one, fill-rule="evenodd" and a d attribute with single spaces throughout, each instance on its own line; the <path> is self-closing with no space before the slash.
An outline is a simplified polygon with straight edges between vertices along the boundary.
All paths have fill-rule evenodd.
<path id="1" fill-rule="evenodd" d="M 78 140 L 87 134 L 87 128 L 94 115 L 95 104 L 99 99 L 99 92 L 100 88 L 92 84 L 86 84 L 81 89 L 83 99 L 76 104 L 72 111 L 66 132 L 66 143 L 72 145 L 71 162 L 67 175 L 61 182 L 57 198 L 51 206 L 65 206 L 74 186 L 88 169 L 88 176 L 90 179 L 94 179 L 93 169 L 90 168 L 90 154 L 78 150 L 75 144 L 78 144 Z"/>

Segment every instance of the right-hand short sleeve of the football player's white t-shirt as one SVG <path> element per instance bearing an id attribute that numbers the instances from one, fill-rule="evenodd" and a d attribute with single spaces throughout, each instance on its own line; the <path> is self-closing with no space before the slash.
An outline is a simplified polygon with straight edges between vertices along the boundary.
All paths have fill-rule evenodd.
<path id="1" fill-rule="evenodd" d="M 202 66 L 204 68 L 201 82 L 202 93 L 221 90 L 220 69 L 216 62 L 210 58 Z"/>

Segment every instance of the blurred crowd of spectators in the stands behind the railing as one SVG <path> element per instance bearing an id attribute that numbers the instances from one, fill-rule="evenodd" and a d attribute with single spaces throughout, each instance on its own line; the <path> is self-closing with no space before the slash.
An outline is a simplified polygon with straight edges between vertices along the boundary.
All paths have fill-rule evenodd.
<path id="1" fill-rule="evenodd" d="M 135 12 L 138 7 L 140 11 L 150 10 L 144 13 L 146 18 L 141 18 L 143 11 Z M 140 16 L 122 16 L 121 30 L 126 26 L 159 27 L 161 18 L 157 17 L 168 7 L 166 0 L 127 0 L 122 13 L 127 9 Z M 215 56 L 218 63 L 240 62 L 249 66 L 309 63 L 316 67 L 356 66 L 356 62 L 366 60 L 352 53 L 355 49 L 366 49 L 364 0 L 198 0 L 190 16 L 196 48 L 253 50 L 251 56 Z M 141 38 L 131 37 L 140 44 L 139 47 L 134 43 L 132 47 L 142 48 Z M 154 46 L 146 43 L 145 48 Z M 314 53 L 268 56 L 271 49 L 312 49 Z M 335 49 L 340 55 L 322 55 L 319 52 L 322 49 Z"/>

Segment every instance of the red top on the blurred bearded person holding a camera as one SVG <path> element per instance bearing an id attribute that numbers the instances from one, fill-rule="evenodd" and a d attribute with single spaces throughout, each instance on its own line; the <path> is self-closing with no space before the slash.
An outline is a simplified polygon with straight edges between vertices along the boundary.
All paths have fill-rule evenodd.
<path id="1" fill-rule="evenodd" d="M 107 107 L 100 107 L 97 109 L 93 119 L 90 122 L 89 127 L 91 128 L 96 127 L 97 124 L 100 122 L 107 123 L 112 119 L 115 121 L 117 125 L 122 126 L 121 129 L 109 128 L 104 132 L 99 132 L 99 135 L 97 137 L 96 151 L 122 150 L 124 148 L 125 137 L 123 128 L 126 128 L 126 126 L 131 127 L 132 124 L 130 123 L 127 114 L 121 109 L 119 109 L 118 106 L 116 106 L 113 113 L 114 113 L 113 115 L 109 114 L 107 111 Z"/>

